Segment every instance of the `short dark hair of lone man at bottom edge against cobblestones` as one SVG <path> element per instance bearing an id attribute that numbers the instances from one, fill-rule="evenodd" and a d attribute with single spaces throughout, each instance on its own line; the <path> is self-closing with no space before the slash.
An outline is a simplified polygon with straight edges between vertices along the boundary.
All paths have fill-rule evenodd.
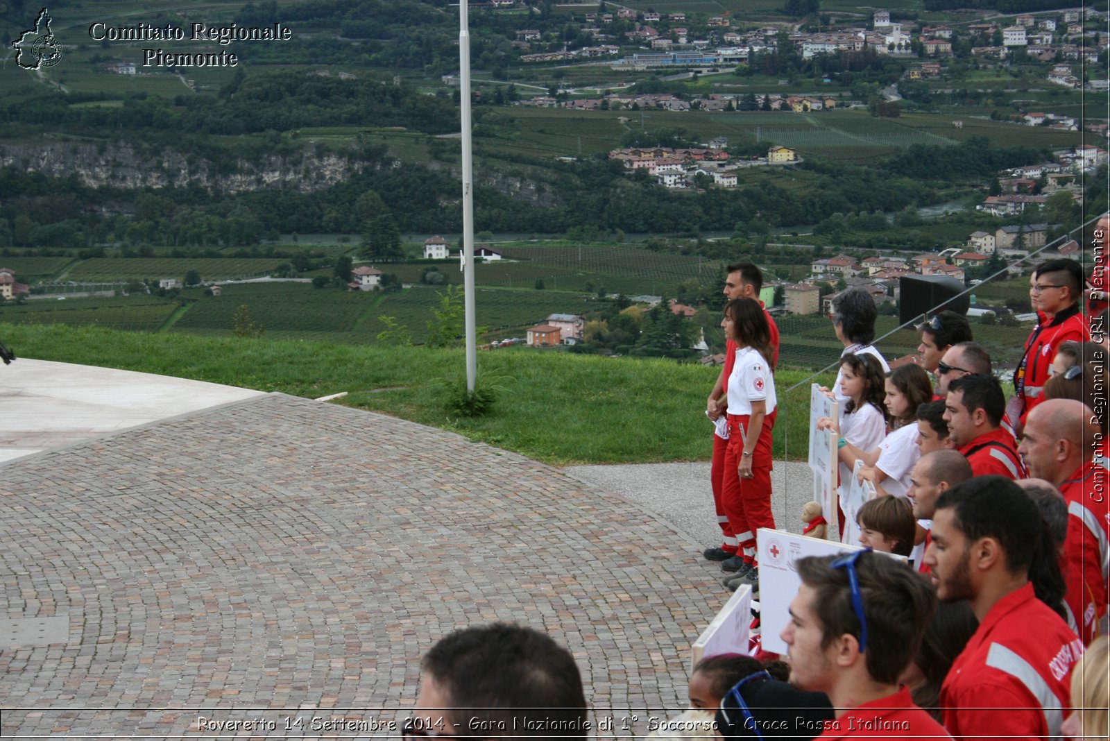
<path id="1" fill-rule="evenodd" d="M 456 630 L 424 654 L 422 666 L 456 713 L 494 729 L 483 730 L 484 738 L 521 735 L 513 721 L 522 712 L 544 721 L 523 731 L 527 735 L 586 738 L 578 666 L 538 630 L 504 622 Z"/>

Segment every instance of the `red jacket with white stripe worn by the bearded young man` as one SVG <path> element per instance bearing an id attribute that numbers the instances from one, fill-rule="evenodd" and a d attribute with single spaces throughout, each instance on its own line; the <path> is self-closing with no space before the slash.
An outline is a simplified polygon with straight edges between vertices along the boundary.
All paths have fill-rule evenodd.
<path id="1" fill-rule="evenodd" d="M 955 739 L 1043 739 L 1071 709 L 1083 642 L 1026 583 L 998 600 L 945 678 L 940 707 Z"/>

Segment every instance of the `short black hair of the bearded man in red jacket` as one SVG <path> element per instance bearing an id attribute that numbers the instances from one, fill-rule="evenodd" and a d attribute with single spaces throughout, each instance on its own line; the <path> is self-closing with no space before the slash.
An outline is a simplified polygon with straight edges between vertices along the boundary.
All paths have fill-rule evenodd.
<path id="1" fill-rule="evenodd" d="M 969 544 L 992 538 L 1006 552 L 1011 573 L 1029 573 L 1045 520 L 1020 486 L 1003 476 L 960 481 L 937 499 L 937 510 L 953 509 L 953 525 Z"/>

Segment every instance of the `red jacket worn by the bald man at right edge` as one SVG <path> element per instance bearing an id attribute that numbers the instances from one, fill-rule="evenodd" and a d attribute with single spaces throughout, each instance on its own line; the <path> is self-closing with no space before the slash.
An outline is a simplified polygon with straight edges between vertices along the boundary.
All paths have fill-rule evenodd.
<path id="1" fill-rule="evenodd" d="M 1068 504 L 1068 537 L 1063 544 L 1067 602 L 1080 638 L 1089 644 L 1099 636 L 1110 592 L 1110 491 L 1106 468 L 1087 463 L 1060 484 Z"/>

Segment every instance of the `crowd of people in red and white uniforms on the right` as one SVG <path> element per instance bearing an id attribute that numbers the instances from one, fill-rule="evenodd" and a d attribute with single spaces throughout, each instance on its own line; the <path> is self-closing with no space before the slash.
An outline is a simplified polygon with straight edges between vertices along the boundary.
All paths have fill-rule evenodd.
<path id="1" fill-rule="evenodd" d="M 748 583 L 758 590 L 756 532 L 775 527 L 778 331 L 756 298 L 760 287 L 754 265 L 728 266 L 726 364 L 706 405 L 716 422 L 712 488 L 723 544 L 704 556 L 720 561 L 730 589 Z M 1048 261 L 1033 272 L 1038 323 L 1009 400 L 962 315 L 929 317 L 918 326 L 918 354 L 891 368 L 872 344 L 870 295 L 849 290 L 834 301 L 844 353 L 836 383 L 824 390 L 839 414 L 819 419 L 818 429 L 836 436 L 840 496 L 837 511 L 825 516 L 836 516 L 841 541 L 906 556 L 909 565 L 870 556 L 798 562 L 804 587 L 781 636 L 796 688 L 854 698 L 849 704 L 857 710 L 868 690 L 881 700 L 868 715 L 871 725 L 912 717 L 920 731 L 915 735 L 1061 732 L 1071 714 L 1074 666 L 1084 647 L 1101 647 L 1110 632 L 1107 317 L 1084 317 L 1083 287 L 1082 268 L 1071 260 Z M 870 481 L 872 499 L 846 496 L 852 476 Z M 803 561 L 813 562 L 803 568 Z M 901 576 L 886 573 L 888 567 Z M 878 579 L 871 590 L 862 586 L 867 573 Z M 910 635 L 906 625 L 886 625 L 894 616 L 889 607 L 871 617 L 868 602 L 882 589 L 906 592 L 920 630 Z M 840 607 L 827 605 L 837 600 Z M 938 600 L 949 607 L 937 611 Z M 865 642 L 881 640 L 884 631 L 896 638 L 884 650 L 892 652 L 885 668 L 872 666 L 875 650 L 865 654 Z M 930 631 L 937 633 L 931 640 Z M 813 635 L 816 648 L 807 642 Z M 830 641 L 839 641 L 839 654 L 829 656 Z M 855 669 L 839 671 L 847 666 Z M 840 680 L 856 689 L 845 694 Z M 839 708 L 838 700 L 833 704 Z M 929 725 L 916 708 L 932 711 L 944 725 Z M 1106 713 L 1100 718 L 1106 738 Z"/>

